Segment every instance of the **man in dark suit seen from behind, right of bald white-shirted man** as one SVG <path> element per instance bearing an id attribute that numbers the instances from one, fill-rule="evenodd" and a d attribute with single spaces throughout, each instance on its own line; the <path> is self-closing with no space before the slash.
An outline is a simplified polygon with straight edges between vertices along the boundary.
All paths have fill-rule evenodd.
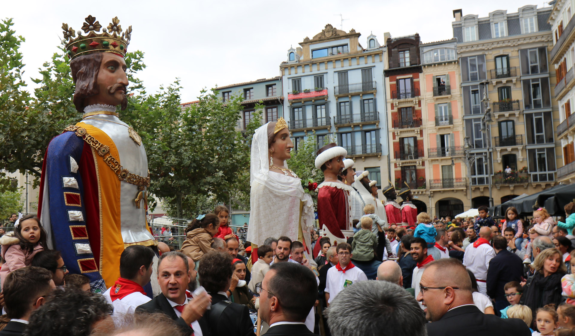
<path id="1" fill-rule="evenodd" d="M 509 232 L 507 229 L 511 229 Z M 512 228 L 505 229 L 505 236 L 513 233 Z M 523 260 L 515 253 L 507 250 L 507 239 L 502 236 L 493 237 L 493 249 L 496 256 L 489 261 L 487 269 L 487 295 L 495 299 L 495 314 L 500 316 L 503 308 L 509 306 L 505 299 L 505 284 L 516 281 L 521 282 L 523 276 Z"/>

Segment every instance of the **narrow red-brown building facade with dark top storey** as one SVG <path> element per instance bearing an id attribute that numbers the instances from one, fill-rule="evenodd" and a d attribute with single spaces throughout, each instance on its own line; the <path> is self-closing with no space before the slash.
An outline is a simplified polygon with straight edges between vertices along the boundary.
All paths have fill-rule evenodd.
<path id="1" fill-rule="evenodd" d="M 419 34 L 388 36 L 385 45 L 391 175 L 397 190 L 406 185 L 412 189 L 418 212 L 427 211 Z"/>

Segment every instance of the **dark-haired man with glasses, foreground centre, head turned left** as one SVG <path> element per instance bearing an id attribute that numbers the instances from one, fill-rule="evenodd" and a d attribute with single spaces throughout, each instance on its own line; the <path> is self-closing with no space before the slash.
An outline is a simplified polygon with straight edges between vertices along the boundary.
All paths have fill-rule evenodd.
<path id="1" fill-rule="evenodd" d="M 297 263 L 274 263 L 256 284 L 259 311 L 270 329 L 266 335 L 315 335 L 305 326 L 305 319 L 316 302 L 316 276 Z"/>

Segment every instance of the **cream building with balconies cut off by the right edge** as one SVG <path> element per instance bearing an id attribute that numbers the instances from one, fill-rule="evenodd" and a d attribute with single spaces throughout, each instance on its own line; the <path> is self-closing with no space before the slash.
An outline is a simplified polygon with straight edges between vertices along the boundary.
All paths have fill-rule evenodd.
<path id="1" fill-rule="evenodd" d="M 561 143 L 562 163 L 557 169 L 557 182 L 575 182 L 575 114 L 572 100 L 575 95 L 575 19 L 573 18 L 575 2 L 572 0 L 557 0 L 549 15 L 549 24 L 553 37 L 553 49 L 549 56 L 555 69 L 555 100 L 559 105 L 559 126 L 557 139 Z M 575 104 L 575 101 L 573 102 Z"/>

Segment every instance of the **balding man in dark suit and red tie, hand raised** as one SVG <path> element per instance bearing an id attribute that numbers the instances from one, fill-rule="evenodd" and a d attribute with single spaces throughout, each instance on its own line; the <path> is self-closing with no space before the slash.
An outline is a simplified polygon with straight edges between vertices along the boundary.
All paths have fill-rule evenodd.
<path id="1" fill-rule="evenodd" d="M 162 253 L 158 260 L 158 282 L 162 294 L 138 306 L 136 312 L 163 312 L 176 322 L 184 335 L 209 335 L 208 326 L 201 317 L 211 298 L 207 293 L 193 299 L 187 297 L 190 268 L 183 253 Z"/>

